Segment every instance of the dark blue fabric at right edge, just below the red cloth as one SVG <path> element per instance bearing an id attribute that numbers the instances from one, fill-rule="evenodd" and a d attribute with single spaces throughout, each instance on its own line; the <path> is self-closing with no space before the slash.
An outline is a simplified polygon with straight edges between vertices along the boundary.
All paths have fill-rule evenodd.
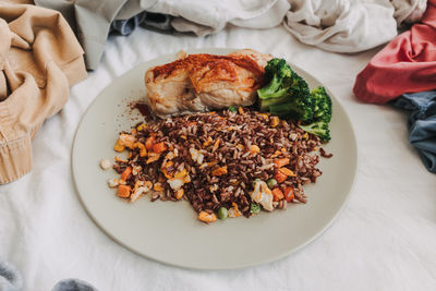
<path id="1" fill-rule="evenodd" d="M 427 170 L 436 172 L 436 90 L 403 94 L 393 106 L 411 111 L 410 143 Z"/>

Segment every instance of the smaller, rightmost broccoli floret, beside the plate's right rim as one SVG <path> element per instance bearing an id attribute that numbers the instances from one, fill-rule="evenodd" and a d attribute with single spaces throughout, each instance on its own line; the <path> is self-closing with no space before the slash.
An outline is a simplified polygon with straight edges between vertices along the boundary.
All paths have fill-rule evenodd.
<path id="1" fill-rule="evenodd" d="M 330 140 L 328 123 L 331 120 L 331 98 L 324 87 L 317 87 L 311 92 L 314 101 L 313 119 L 306 124 L 300 125 L 304 131 L 319 136 L 323 142 Z"/>

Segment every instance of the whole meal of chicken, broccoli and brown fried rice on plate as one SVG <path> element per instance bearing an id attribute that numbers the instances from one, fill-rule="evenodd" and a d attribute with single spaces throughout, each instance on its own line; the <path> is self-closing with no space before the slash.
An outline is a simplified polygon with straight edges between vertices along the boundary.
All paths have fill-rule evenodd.
<path id="1" fill-rule="evenodd" d="M 332 156 L 320 147 L 332 113 L 324 87 L 311 92 L 283 59 L 253 50 L 183 56 L 145 78 L 161 119 L 120 133 L 113 149 L 129 156 L 108 181 L 119 197 L 185 199 L 206 223 L 306 203 L 303 185 Z"/>

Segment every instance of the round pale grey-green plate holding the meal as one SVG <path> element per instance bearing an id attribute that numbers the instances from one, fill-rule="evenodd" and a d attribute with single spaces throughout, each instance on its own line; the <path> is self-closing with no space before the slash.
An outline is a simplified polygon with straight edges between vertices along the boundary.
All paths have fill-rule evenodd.
<path id="1" fill-rule="evenodd" d="M 225 54 L 233 49 L 201 49 L 189 53 Z M 231 269 L 264 264 L 283 257 L 318 237 L 338 215 L 351 191 L 358 148 L 350 120 L 331 92 L 334 114 L 331 142 L 325 146 L 335 156 L 319 163 L 323 175 L 305 186 L 308 203 L 287 210 L 262 213 L 217 221 L 209 226 L 196 219 L 187 202 L 155 202 L 143 197 L 129 204 L 114 195 L 102 171 L 101 158 L 113 159 L 118 133 L 137 122 L 128 101 L 144 98 L 144 73 L 153 65 L 172 61 L 164 56 L 142 63 L 106 87 L 85 112 L 72 151 L 74 182 L 88 215 L 110 238 L 129 250 L 161 263 L 194 269 Z M 313 88 L 320 83 L 292 68 Z M 133 117 L 133 118 L 132 118 Z"/>

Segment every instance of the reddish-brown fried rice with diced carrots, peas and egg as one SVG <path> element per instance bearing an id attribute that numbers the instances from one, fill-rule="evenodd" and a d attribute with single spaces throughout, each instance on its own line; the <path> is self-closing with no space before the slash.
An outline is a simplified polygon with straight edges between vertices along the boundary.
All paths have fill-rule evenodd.
<path id="1" fill-rule="evenodd" d="M 129 151 L 114 166 L 120 197 L 186 199 L 204 222 L 305 203 L 303 185 L 322 174 L 318 136 L 250 108 L 138 124 L 117 144 Z"/>

